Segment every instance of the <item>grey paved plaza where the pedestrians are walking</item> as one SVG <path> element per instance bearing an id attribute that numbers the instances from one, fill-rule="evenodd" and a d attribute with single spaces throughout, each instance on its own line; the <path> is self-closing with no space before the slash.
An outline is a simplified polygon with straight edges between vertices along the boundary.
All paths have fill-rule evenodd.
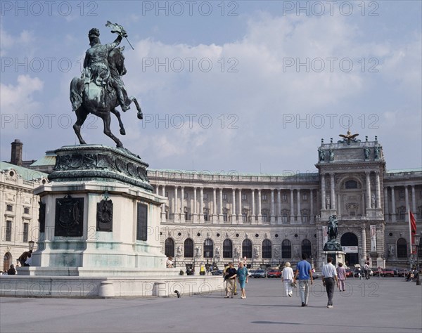
<path id="1" fill-rule="evenodd" d="M 326 308 L 321 279 L 309 305 L 280 279 L 250 279 L 246 299 L 222 292 L 168 298 L 1 297 L 0 332 L 422 332 L 422 287 L 403 278 L 347 280 Z"/>

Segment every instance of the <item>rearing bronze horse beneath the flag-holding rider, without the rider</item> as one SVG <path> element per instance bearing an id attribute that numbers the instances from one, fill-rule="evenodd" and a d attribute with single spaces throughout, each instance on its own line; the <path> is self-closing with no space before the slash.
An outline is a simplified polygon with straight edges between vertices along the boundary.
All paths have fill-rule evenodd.
<path id="1" fill-rule="evenodd" d="M 124 46 L 122 48 L 113 48 L 108 54 L 108 66 L 110 68 L 110 75 L 116 81 L 121 80 L 120 76 L 126 74 L 124 67 Z M 134 96 L 128 98 L 130 103 L 135 103 L 136 110 L 138 110 L 137 117 L 143 118 L 141 107 Z M 84 84 L 84 79 L 74 77 L 70 82 L 70 101 L 72 102 L 72 110 L 75 111 L 77 121 L 73 125 L 79 143 L 82 145 L 87 144 L 81 136 L 81 126 L 84 124 L 87 116 L 92 113 L 97 117 L 103 119 L 104 134 L 109 136 L 115 141 L 117 148 L 122 148 L 122 142 L 114 136 L 110 131 L 110 112 L 117 117 L 120 126 L 120 134 L 126 134 L 120 112 L 115 109 L 119 106 L 117 95 L 114 89 L 108 90 L 107 87 L 97 86 L 94 82 Z"/>

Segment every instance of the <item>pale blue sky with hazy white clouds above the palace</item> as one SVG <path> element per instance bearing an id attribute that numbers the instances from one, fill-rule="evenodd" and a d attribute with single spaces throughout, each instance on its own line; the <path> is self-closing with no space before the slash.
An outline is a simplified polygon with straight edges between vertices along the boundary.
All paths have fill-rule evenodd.
<path id="1" fill-rule="evenodd" d="M 387 169 L 422 166 L 421 1 L 1 1 L 0 148 L 79 144 L 69 99 L 92 27 L 123 40 L 126 135 L 153 169 L 315 171 L 339 134 L 375 136 Z M 115 146 L 89 115 L 87 143 Z"/>

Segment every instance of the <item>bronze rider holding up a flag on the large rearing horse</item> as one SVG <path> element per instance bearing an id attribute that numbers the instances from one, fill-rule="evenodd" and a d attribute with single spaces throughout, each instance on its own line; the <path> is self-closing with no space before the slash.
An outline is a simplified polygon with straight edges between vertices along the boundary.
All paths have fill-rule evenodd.
<path id="1" fill-rule="evenodd" d="M 82 79 L 84 79 L 85 86 L 94 82 L 97 86 L 105 88 L 108 93 L 114 88 L 122 110 L 127 111 L 130 109 L 129 104 L 131 101 L 127 98 L 127 91 L 123 81 L 120 77 L 114 78 L 113 75 L 110 74 L 108 65 L 108 55 L 110 51 L 120 44 L 123 37 L 127 37 L 127 33 L 123 27 L 118 27 L 120 29 L 112 31 L 117 32 L 118 36 L 115 41 L 110 44 L 101 44 L 99 39 L 100 31 L 98 29 L 93 28 L 89 30 L 88 37 L 91 48 L 89 48 L 85 54 Z"/>

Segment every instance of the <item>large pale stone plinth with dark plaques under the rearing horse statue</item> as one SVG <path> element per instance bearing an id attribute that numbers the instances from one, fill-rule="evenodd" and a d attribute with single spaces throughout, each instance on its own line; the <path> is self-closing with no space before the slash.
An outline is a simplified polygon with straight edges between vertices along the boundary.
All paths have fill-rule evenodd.
<path id="1" fill-rule="evenodd" d="M 41 199 L 39 242 L 25 273 L 104 277 L 165 270 L 160 207 L 166 199 L 152 192 L 148 164 L 102 145 L 66 146 L 56 154 L 51 182 L 34 191 Z"/>

